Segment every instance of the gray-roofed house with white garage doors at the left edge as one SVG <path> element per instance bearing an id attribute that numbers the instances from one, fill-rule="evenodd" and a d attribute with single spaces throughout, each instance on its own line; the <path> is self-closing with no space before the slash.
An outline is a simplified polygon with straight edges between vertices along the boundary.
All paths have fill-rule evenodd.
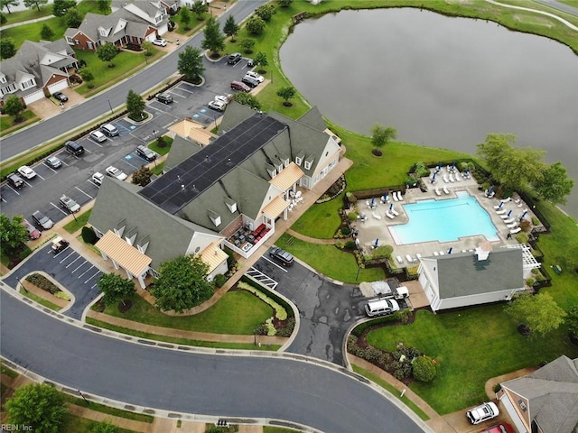
<path id="1" fill-rule="evenodd" d="M 0 92 L 22 97 L 26 105 L 68 88 L 69 69 L 77 68 L 74 51 L 58 41 L 24 41 L 14 57 L 0 63 Z"/>

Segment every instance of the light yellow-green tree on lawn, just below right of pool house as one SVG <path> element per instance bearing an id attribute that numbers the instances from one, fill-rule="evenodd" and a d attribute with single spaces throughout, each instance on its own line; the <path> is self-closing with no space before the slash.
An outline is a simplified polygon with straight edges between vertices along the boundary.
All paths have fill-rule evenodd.
<path id="1" fill-rule="evenodd" d="M 566 313 L 549 293 L 523 294 L 505 308 L 511 318 L 527 325 L 533 335 L 545 337 L 564 323 Z"/>

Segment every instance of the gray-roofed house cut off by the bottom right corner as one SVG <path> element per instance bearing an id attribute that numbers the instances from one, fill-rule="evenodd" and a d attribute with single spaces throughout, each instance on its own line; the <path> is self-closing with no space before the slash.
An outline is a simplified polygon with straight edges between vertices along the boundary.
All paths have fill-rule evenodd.
<path id="1" fill-rule="evenodd" d="M 578 358 L 562 355 L 534 373 L 500 385 L 496 397 L 519 433 L 578 431 Z"/>

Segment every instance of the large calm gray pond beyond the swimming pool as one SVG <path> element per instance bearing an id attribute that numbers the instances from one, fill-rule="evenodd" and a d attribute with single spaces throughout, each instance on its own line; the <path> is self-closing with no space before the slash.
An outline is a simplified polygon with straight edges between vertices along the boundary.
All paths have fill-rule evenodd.
<path id="1" fill-rule="evenodd" d="M 489 133 L 562 161 L 576 185 L 578 57 L 545 37 L 418 9 L 342 11 L 305 20 L 284 43 L 285 75 L 332 122 L 361 134 L 474 153 Z M 387 151 L 386 151 L 387 152 Z"/>

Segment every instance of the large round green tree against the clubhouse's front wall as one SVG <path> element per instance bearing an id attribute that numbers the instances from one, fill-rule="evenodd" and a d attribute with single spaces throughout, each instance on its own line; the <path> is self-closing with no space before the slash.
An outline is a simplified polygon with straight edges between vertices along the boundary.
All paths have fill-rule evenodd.
<path id="1" fill-rule="evenodd" d="M 210 299 L 213 290 L 207 281 L 208 272 L 209 265 L 199 256 L 185 255 L 164 262 L 159 268 L 161 276 L 151 289 L 156 306 L 182 313 Z"/>

